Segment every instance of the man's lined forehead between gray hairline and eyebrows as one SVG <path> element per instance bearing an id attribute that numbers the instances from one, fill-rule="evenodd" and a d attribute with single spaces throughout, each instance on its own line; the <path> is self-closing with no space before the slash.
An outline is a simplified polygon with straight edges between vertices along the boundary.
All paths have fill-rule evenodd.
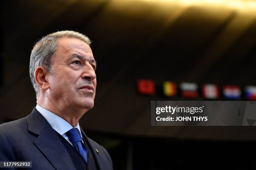
<path id="1" fill-rule="evenodd" d="M 93 58 L 90 46 L 87 45 L 86 42 L 73 37 L 59 38 L 56 54 L 59 54 L 62 57 L 77 54 L 84 57 Z"/>

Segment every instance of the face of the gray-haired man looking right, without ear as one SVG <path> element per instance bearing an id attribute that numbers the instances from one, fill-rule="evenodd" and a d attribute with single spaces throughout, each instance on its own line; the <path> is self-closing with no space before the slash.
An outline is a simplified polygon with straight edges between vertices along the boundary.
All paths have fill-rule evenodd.
<path id="1" fill-rule="evenodd" d="M 97 81 L 89 45 L 77 38 L 59 38 L 51 64 L 54 71 L 49 76 L 49 100 L 63 108 L 90 110 Z"/>

